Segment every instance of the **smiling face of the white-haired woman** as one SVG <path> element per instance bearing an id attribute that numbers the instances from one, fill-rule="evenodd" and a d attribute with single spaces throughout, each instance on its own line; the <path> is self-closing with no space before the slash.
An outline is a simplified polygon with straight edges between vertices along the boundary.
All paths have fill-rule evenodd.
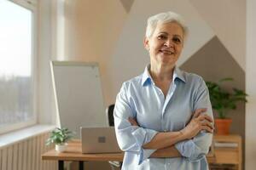
<path id="1" fill-rule="evenodd" d="M 183 49 L 183 29 L 176 22 L 158 24 L 151 37 L 145 38 L 151 65 L 174 66 Z"/>

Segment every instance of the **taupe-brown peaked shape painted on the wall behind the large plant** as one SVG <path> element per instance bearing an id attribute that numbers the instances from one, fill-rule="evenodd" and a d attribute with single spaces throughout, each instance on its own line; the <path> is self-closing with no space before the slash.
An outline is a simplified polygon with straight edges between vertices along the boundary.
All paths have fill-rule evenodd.
<path id="1" fill-rule="evenodd" d="M 180 68 L 184 71 L 196 73 L 205 81 L 218 82 L 224 77 L 232 77 L 233 82 L 224 82 L 222 85 L 228 90 L 239 88 L 245 91 L 245 71 L 238 65 L 224 44 L 218 37 L 213 37 L 204 47 L 193 54 Z M 214 115 L 217 117 L 218 115 Z M 245 148 L 245 104 L 238 103 L 235 111 L 227 114 L 232 119 L 230 133 L 242 136 L 242 147 Z M 244 152 L 243 152 L 244 158 Z"/>

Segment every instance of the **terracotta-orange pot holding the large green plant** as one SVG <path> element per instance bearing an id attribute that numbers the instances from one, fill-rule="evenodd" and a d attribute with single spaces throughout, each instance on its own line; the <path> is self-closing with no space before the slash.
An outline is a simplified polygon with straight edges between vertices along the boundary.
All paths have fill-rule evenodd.
<path id="1" fill-rule="evenodd" d="M 230 126 L 232 119 L 215 119 L 216 134 L 227 135 L 230 134 Z"/>

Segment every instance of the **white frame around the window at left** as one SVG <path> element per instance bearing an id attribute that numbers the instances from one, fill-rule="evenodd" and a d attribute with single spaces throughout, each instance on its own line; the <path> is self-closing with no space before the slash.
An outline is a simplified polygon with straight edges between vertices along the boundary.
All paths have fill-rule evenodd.
<path id="1" fill-rule="evenodd" d="M 37 0 L 7 0 L 32 12 L 32 119 L 24 122 L 10 123 L 0 128 L 1 133 L 8 133 L 38 123 L 38 10 Z"/>

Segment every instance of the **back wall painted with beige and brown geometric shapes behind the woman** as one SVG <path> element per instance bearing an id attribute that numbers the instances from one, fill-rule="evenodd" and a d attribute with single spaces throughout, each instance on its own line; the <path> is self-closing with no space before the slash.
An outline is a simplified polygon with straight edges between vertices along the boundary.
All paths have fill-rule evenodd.
<path id="1" fill-rule="evenodd" d="M 73 38 L 74 42 L 79 42 L 73 43 L 67 39 L 67 48 L 73 49 L 71 55 L 81 56 L 79 59 L 96 59 L 96 62 L 99 62 L 103 91 L 108 91 L 108 95 L 105 95 L 108 104 L 115 100 L 121 83 L 141 74 L 144 66 L 148 64 L 148 53 L 143 48 L 147 19 L 153 14 L 166 11 L 181 14 L 189 27 L 189 37 L 177 66 L 195 72 L 205 80 L 217 81 L 223 77 L 233 77 L 235 82 L 227 86 L 245 89 L 246 1 L 67 2 L 76 5 L 73 11 L 67 10 L 67 15 L 73 16 L 74 13 L 73 19 L 77 21 L 69 26 L 73 28 L 71 32 L 77 36 Z M 68 6 L 68 3 L 66 4 Z M 96 17 L 91 17 L 90 14 Z M 119 25 L 116 24 L 118 22 Z M 79 53 L 73 44 L 82 48 Z M 105 50 L 98 50 L 99 48 Z M 231 132 L 244 136 L 244 105 L 239 105 L 238 110 L 229 116 L 233 118 Z"/>

